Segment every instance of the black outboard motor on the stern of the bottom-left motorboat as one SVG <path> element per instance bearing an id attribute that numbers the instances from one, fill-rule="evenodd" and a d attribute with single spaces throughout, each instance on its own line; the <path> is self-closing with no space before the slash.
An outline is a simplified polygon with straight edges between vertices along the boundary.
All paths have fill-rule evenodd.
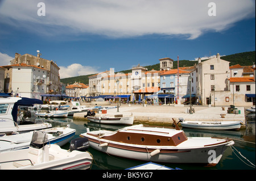
<path id="1" fill-rule="evenodd" d="M 78 151 L 87 151 L 89 148 L 89 140 L 88 138 L 82 137 L 82 138 L 75 138 L 71 140 L 69 150 L 78 150 Z"/>

